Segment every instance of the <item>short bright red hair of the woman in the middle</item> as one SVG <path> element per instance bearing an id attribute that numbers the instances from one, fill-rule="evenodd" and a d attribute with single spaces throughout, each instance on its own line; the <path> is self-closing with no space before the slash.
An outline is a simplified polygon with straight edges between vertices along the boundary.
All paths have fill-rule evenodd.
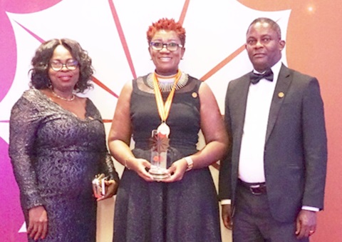
<path id="1" fill-rule="evenodd" d="M 159 19 L 157 22 L 152 23 L 147 30 L 147 41 L 150 44 L 155 33 L 160 30 L 165 31 L 175 31 L 178 38 L 180 38 L 180 43 L 185 46 L 185 29 L 182 27 L 180 22 L 176 22 L 175 19 Z"/>

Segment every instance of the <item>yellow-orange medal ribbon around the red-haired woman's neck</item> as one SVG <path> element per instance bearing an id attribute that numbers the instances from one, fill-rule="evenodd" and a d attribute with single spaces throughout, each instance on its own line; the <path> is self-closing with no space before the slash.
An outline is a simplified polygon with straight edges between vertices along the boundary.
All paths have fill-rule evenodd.
<path id="1" fill-rule="evenodd" d="M 164 101 L 162 100 L 162 93 L 161 93 L 159 86 L 158 86 L 157 76 L 155 75 L 155 73 L 153 74 L 153 86 L 155 87 L 154 88 L 154 90 L 155 90 L 155 101 L 157 103 L 157 109 L 158 109 L 160 119 L 162 119 L 162 123 L 165 123 L 167 116 L 169 116 L 173 96 L 175 95 L 175 91 L 176 91 L 176 85 L 177 85 L 177 82 L 180 80 L 181 75 L 182 75 L 182 72 L 180 70 L 178 70 L 177 75 L 175 77 L 175 82 L 173 83 L 170 94 L 169 94 L 169 96 L 167 96 L 167 99 L 166 99 L 165 104 L 164 104 Z"/>

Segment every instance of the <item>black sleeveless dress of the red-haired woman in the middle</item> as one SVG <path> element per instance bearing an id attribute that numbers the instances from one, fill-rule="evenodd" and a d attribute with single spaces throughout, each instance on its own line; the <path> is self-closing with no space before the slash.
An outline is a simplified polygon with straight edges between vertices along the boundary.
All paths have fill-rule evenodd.
<path id="1" fill-rule="evenodd" d="M 146 83 L 146 76 L 133 80 L 130 101 L 133 153 L 149 161 L 149 138 L 160 125 L 160 116 L 155 95 L 139 89 L 142 81 Z M 171 129 L 167 166 L 197 152 L 201 83 L 189 76 L 187 85 L 175 92 L 167 118 Z M 164 99 L 167 95 L 162 94 Z M 209 168 L 187 171 L 175 183 L 146 182 L 125 169 L 115 202 L 113 241 L 221 241 L 217 192 Z"/>

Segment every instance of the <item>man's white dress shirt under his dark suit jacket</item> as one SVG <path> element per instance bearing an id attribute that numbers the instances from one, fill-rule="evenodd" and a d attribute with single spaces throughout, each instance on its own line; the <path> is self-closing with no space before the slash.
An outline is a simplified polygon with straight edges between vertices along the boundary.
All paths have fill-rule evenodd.
<path id="1" fill-rule="evenodd" d="M 248 183 L 265 181 L 264 147 L 269 109 L 279 76 L 281 61 L 271 67 L 273 81 L 261 79 L 249 84 L 244 131 L 239 156 L 239 178 Z M 254 73 L 258 73 L 254 70 Z"/>

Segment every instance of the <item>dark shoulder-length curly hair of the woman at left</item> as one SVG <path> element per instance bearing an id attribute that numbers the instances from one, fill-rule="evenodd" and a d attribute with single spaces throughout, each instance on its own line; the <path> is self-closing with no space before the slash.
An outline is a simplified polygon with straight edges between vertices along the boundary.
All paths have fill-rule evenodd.
<path id="1" fill-rule="evenodd" d="M 94 72 L 91 59 L 88 56 L 88 52 L 82 49 L 77 41 L 72 39 L 51 39 L 38 47 L 31 61 L 33 67 L 29 71 L 31 73 L 30 86 L 33 86 L 35 89 L 51 87 L 51 81 L 48 77 L 49 62 L 53 56 L 53 51 L 59 45 L 68 49 L 73 59 L 78 61 L 80 77 L 75 86 L 76 93 L 83 93 L 86 89 L 93 88 L 93 85 L 90 83 L 91 75 Z"/>

